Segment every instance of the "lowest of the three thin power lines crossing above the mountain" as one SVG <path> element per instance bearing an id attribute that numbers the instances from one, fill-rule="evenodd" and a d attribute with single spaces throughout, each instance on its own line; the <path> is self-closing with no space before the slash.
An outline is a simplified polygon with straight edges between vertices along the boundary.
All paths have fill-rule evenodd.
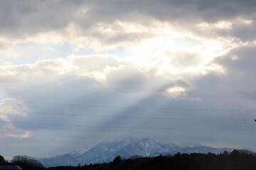
<path id="1" fill-rule="evenodd" d="M 207 128 L 159 128 L 159 127 L 124 127 L 124 126 L 93 126 L 93 125 L 67 125 L 55 123 L 23 123 L 9 122 L 0 120 L 0 123 L 14 123 L 23 125 L 46 125 L 46 126 L 63 126 L 76 128 L 97 128 L 97 129 L 131 129 L 131 130 L 203 130 L 203 131 L 256 131 L 256 129 L 207 129 Z"/>

